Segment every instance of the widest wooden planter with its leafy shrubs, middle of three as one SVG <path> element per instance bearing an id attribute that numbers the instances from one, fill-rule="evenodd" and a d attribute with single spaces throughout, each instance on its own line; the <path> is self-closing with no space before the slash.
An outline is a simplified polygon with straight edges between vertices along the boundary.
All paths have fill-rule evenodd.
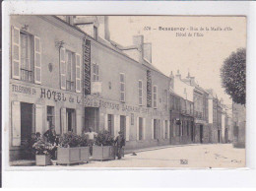
<path id="1" fill-rule="evenodd" d="M 64 134 L 60 137 L 57 150 L 58 164 L 71 164 L 89 161 L 89 147 L 87 138 L 73 133 Z"/>

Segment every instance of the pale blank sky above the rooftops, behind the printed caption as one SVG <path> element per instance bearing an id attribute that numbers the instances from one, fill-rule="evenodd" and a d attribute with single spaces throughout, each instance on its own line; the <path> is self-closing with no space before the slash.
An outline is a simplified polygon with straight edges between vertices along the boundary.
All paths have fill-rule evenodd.
<path id="1" fill-rule="evenodd" d="M 245 17 L 110 16 L 109 32 L 111 40 L 124 46 L 133 44 L 133 35 L 143 34 L 152 43 L 153 65 L 163 74 L 179 70 L 185 78 L 189 71 L 201 87 L 214 89 L 231 104 L 220 69 L 232 51 L 246 47 Z"/>

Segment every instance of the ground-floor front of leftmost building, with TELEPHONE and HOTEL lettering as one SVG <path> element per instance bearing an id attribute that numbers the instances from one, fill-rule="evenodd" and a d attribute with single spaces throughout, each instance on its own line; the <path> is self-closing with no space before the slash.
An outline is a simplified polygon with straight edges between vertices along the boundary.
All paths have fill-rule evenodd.
<path id="1" fill-rule="evenodd" d="M 83 99 L 76 93 L 10 80 L 10 157 L 19 159 L 32 133 L 53 127 L 57 134 L 83 130 Z"/>

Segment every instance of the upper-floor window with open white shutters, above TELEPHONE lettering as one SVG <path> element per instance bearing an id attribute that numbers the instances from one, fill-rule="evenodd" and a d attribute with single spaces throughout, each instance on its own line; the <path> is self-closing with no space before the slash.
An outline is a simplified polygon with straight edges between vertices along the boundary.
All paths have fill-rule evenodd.
<path id="1" fill-rule="evenodd" d="M 12 27 L 12 78 L 41 83 L 40 38 Z"/>

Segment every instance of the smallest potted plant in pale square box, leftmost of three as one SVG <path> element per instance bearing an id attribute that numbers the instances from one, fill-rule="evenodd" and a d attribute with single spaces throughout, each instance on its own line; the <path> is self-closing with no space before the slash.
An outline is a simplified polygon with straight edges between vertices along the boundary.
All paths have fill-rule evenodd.
<path id="1" fill-rule="evenodd" d="M 49 165 L 51 164 L 50 152 L 55 148 L 54 145 L 39 139 L 32 145 L 35 151 L 35 164 L 36 165 Z"/>

